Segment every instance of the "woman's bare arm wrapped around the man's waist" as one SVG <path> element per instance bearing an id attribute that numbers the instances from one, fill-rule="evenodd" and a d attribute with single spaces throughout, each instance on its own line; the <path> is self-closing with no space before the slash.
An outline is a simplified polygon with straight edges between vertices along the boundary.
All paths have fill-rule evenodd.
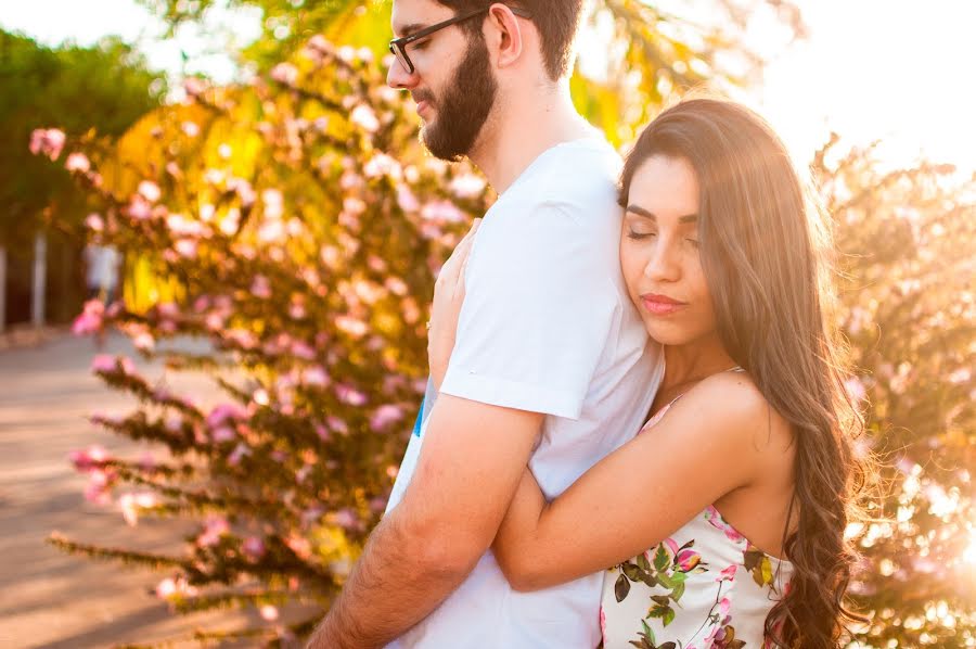
<path id="1" fill-rule="evenodd" d="M 502 571 L 516 589 L 535 590 L 657 545 L 747 485 L 762 454 L 782 453 L 756 444 L 768 425 L 769 406 L 746 376 L 716 374 L 552 502 L 526 471 L 492 546 Z"/>

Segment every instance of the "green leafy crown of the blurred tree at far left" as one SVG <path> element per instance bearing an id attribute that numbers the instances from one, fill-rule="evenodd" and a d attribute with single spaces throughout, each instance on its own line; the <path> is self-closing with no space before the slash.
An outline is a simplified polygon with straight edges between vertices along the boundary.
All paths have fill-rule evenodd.
<path id="1" fill-rule="evenodd" d="M 57 124 L 81 136 L 117 137 L 159 104 L 165 85 L 118 40 L 49 49 L 0 30 L 0 240 L 24 243 L 46 208 L 80 237 L 86 196 L 70 177 L 29 154 L 30 133 Z"/>

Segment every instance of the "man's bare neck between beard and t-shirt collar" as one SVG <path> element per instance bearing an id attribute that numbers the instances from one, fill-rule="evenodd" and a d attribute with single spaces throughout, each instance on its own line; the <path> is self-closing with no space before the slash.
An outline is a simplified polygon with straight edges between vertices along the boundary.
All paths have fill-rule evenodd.
<path id="1" fill-rule="evenodd" d="M 517 93 L 522 101 L 498 100 L 468 157 L 499 194 L 542 152 L 594 132 L 576 112 L 564 86 Z"/>

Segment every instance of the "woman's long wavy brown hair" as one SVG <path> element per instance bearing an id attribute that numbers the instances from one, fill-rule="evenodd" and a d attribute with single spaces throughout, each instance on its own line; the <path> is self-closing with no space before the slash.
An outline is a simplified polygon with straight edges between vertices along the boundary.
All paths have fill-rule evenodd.
<path id="1" fill-rule="evenodd" d="M 772 128 L 730 101 L 691 99 L 641 133 L 621 180 L 664 155 L 691 164 L 699 187 L 702 265 L 721 341 L 792 428 L 794 498 L 784 530 L 788 587 L 766 620 L 767 642 L 833 648 L 861 620 L 844 595 L 856 560 L 845 530 L 863 466 L 852 438 L 863 428 L 844 387 L 833 326 L 831 251 L 822 213 Z"/>

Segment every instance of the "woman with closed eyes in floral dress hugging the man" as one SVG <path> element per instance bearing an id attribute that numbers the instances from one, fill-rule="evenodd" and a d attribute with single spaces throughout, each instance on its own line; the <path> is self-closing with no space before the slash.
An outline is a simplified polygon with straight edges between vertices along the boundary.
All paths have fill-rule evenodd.
<path id="1" fill-rule="evenodd" d="M 842 600 L 860 421 L 818 214 L 770 127 L 710 99 L 643 131 L 620 199 L 624 277 L 664 382 L 640 434 L 552 502 L 526 471 L 496 557 L 525 590 L 613 567 L 608 649 L 836 647 L 857 619 Z M 463 289 L 437 293 L 433 331 L 452 332 Z"/>

